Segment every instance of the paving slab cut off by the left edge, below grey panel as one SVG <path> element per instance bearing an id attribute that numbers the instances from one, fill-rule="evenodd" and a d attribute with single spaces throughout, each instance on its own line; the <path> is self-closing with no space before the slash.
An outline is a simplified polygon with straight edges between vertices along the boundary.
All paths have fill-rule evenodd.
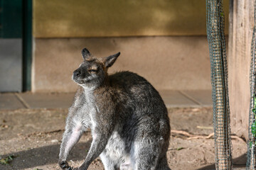
<path id="1" fill-rule="evenodd" d="M 23 103 L 17 98 L 16 94 L 0 94 L 0 109 L 25 108 Z"/>

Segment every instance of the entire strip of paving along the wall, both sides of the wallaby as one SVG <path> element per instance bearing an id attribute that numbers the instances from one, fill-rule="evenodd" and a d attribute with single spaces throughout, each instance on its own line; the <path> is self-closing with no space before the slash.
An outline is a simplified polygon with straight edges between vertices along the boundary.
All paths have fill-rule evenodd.
<path id="1" fill-rule="evenodd" d="M 161 90 L 168 108 L 212 106 L 211 91 L 172 91 Z M 0 110 L 18 108 L 69 108 L 75 93 L 21 93 L 0 94 Z"/>

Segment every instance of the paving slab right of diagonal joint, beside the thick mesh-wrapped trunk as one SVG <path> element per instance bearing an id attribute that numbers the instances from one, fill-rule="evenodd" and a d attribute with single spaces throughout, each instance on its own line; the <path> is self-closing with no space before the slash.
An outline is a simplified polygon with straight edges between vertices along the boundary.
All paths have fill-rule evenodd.
<path id="1" fill-rule="evenodd" d="M 210 90 L 181 91 L 181 93 L 198 102 L 201 106 L 213 106 Z"/>

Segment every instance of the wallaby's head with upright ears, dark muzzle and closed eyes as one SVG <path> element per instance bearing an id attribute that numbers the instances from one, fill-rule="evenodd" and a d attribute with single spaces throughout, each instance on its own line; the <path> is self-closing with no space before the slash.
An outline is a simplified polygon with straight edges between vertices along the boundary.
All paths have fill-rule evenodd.
<path id="1" fill-rule="evenodd" d="M 96 88 L 103 84 L 107 79 L 107 69 L 114 64 L 118 52 L 109 57 L 93 57 L 90 52 L 84 48 L 82 50 L 82 58 L 84 61 L 80 67 L 73 72 L 73 80 L 83 87 Z"/>

